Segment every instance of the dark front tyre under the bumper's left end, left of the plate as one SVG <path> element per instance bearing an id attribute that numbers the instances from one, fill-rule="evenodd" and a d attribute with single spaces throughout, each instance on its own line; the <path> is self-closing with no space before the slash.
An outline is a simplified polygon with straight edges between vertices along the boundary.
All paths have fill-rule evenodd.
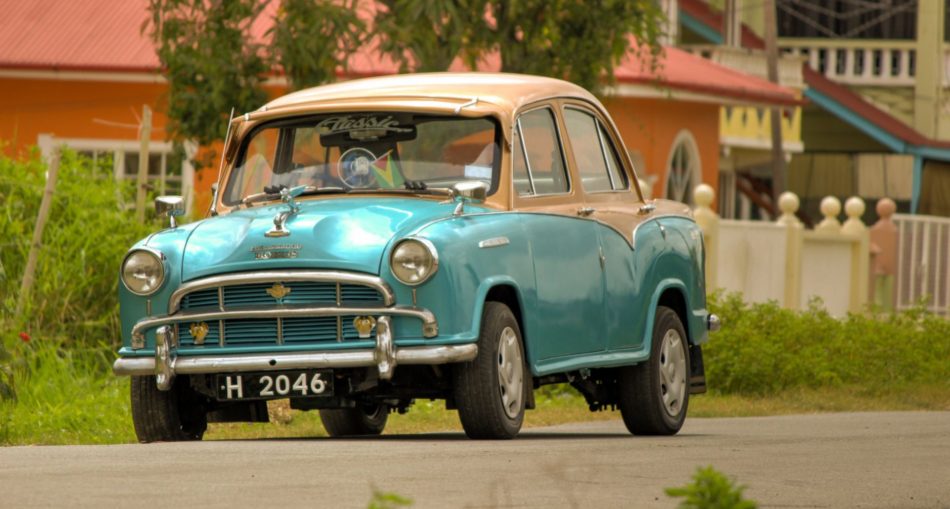
<path id="1" fill-rule="evenodd" d="M 172 388 L 161 391 L 154 376 L 132 377 L 132 423 L 139 442 L 201 440 L 208 414 L 187 377 L 177 377 Z"/>

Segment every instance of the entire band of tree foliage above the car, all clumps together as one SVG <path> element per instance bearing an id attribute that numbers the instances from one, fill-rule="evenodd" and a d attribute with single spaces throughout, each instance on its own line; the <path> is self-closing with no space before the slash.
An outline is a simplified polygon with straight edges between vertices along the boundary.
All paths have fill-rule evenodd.
<path id="1" fill-rule="evenodd" d="M 265 11 L 276 13 L 272 28 L 255 40 L 251 26 Z M 658 48 L 664 26 L 655 0 L 149 0 L 149 12 L 144 28 L 169 82 L 169 133 L 205 146 L 224 137 L 231 108 L 266 100 L 272 70 L 299 89 L 334 81 L 360 48 L 378 48 L 403 71 L 445 71 L 456 58 L 474 68 L 497 54 L 504 72 L 596 91 L 612 83 L 632 38 Z"/>

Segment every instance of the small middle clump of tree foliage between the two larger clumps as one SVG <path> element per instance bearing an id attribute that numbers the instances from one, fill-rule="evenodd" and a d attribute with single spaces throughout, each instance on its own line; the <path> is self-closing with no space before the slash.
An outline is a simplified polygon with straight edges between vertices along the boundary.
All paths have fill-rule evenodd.
<path id="1" fill-rule="evenodd" d="M 269 34 L 271 54 L 295 89 L 336 79 L 346 57 L 364 43 L 357 0 L 282 0 Z"/>

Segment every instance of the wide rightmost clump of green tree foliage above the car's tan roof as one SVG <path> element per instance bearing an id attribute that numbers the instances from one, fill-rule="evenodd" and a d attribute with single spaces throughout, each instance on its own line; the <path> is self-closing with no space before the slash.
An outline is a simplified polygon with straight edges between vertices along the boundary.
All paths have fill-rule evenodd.
<path id="1" fill-rule="evenodd" d="M 497 53 L 501 71 L 553 76 L 598 90 L 631 49 L 654 54 L 665 19 L 654 0 L 385 0 L 381 50 L 404 69 L 470 67 Z M 632 39 L 639 41 L 633 46 Z"/>

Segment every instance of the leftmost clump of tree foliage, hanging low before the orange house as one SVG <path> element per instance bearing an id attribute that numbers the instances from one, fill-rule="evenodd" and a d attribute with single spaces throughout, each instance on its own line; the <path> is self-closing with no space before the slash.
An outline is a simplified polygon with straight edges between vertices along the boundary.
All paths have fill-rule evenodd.
<path id="1" fill-rule="evenodd" d="M 224 138 L 228 112 L 266 99 L 268 70 L 251 24 L 259 0 L 149 0 L 148 28 L 168 78 L 169 133 L 209 145 Z"/>

